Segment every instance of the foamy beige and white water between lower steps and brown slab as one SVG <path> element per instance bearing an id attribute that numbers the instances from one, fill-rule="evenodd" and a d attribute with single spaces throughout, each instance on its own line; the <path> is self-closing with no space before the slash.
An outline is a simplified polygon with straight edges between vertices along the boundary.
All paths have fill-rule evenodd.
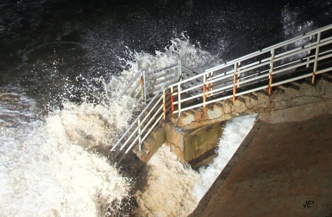
<path id="1" fill-rule="evenodd" d="M 257 115 L 227 122 L 219 141 L 218 155 L 199 173 L 180 163 L 165 144 L 147 163 L 147 184 L 135 194 L 138 216 L 186 217 L 211 187 L 254 125 Z"/>

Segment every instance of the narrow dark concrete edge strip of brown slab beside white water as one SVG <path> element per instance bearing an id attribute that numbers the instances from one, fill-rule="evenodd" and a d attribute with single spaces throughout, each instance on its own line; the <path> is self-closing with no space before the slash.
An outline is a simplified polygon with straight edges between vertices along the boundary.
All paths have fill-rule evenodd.
<path id="1" fill-rule="evenodd" d="M 247 148 L 251 145 L 252 140 L 255 138 L 258 130 L 262 127 L 263 124 L 264 122 L 261 120 L 256 121 L 253 128 L 249 131 L 248 135 L 242 141 L 234 155 L 228 161 L 227 165 L 223 168 L 216 181 L 212 184 L 204 197 L 200 200 L 196 209 L 188 217 L 199 217 L 206 210 L 212 197 L 216 194 L 216 192 L 218 192 L 224 180 L 227 178 L 228 174 L 233 170 L 237 162 L 245 154 Z"/>

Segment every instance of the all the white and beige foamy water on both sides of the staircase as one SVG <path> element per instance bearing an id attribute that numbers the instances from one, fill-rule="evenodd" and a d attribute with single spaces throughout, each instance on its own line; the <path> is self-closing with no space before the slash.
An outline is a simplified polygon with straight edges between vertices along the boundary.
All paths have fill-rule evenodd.
<path id="1" fill-rule="evenodd" d="M 285 11 L 283 16 L 290 13 Z M 292 26 L 285 28 L 287 35 L 287 28 Z M 1 93 L 0 216 L 103 216 L 120 210 L 120 201 L 130 197 L 131 180 L 121 176 L 105 157 L 93 150 L 112 144 L 142 104 L 124 96 L 110 108 L 112 100 L 142 67 L 154 71 L 177 63 L 181 57 L 184 65 L 199 72 L 222 62 L 190 44 L 184 35 L 182 40 L 171 40 L 164 52 L 132 52 L 132 55 L 134 60 L 127 62 L 130 68 L 120 76 L 108 75 L 94 81 L 81 78 L 82 86 L 92 90 L 98 104 L 83 100 L 77 105 L 64 98 L 61 110 L 55 109 L 39 118 L 41 111 L 35 100 L 24 91 L 10 92 L 8 96 Z M 95 83 L 102 88 L 94 87 Z M 64 95 L 70 95 L 71 89 L 66 85 L 63 89 L 68 92 Z M 218 157 L 199 173 L 179 163 L 162 146 L 146 168 L 145 189 L 135 194 L 140 206 L 137 215 L 190 214 L 254 120 L 255 117 L 249 116 L 230 121 L 223 132 Z"/>

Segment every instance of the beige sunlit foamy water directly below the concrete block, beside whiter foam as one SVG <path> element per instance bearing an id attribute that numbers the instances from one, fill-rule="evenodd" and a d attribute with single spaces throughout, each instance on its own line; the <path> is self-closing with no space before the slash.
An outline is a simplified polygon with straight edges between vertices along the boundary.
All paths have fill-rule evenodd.
<path id="1" fill-rule="evenodd" d="M 148 161 L 147 183 L 135 194 L 139 217 L 186 217 L 196 206 L 193 187 L 199 175 L 163 144 Z"/>

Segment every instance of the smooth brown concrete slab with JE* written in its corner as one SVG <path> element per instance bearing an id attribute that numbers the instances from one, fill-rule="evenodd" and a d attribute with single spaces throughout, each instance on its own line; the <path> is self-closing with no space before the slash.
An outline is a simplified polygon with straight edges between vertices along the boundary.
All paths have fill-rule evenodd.
<path id="1" fill-rule="evenodd" d="M 190 216 L 332 216 L 332 114 L 258 120 Z"/>

